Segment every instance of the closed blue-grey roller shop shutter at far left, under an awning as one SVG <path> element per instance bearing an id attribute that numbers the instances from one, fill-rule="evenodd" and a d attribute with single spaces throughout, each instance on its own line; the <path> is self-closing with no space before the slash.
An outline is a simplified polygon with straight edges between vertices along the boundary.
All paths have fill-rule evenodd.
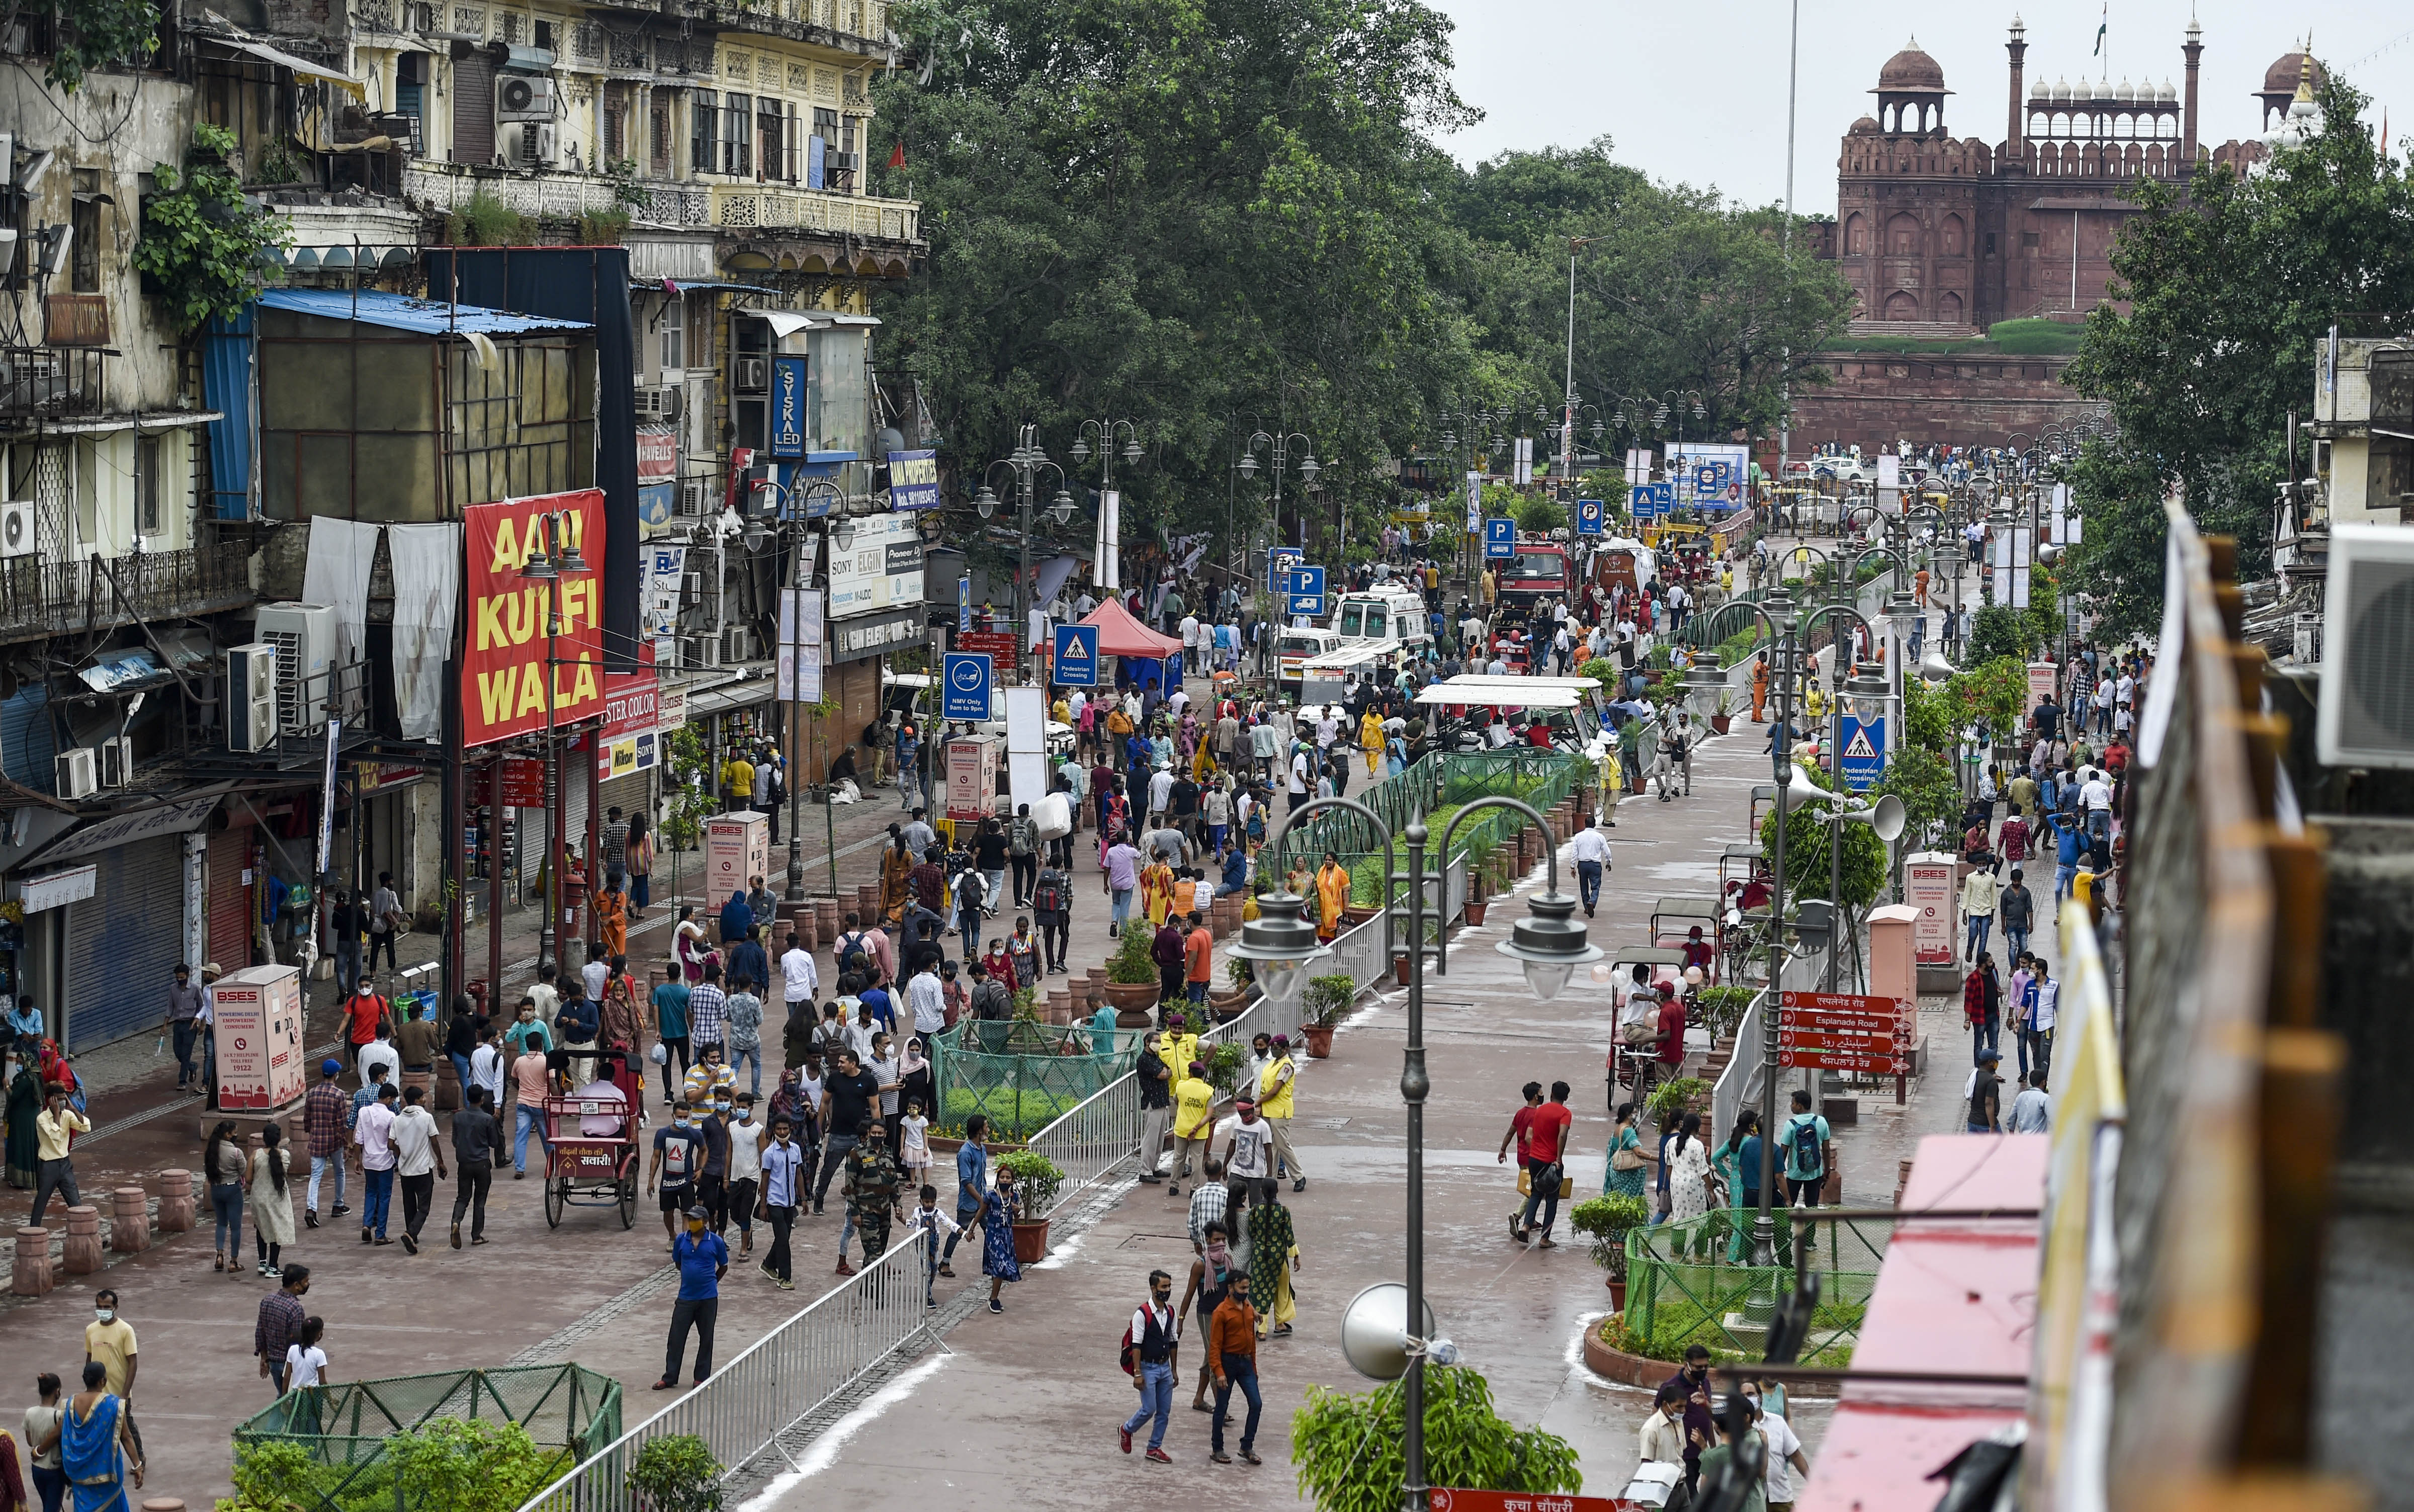
<path id="1" fill-rule="evenodd" d="M 181 848 L 181 836 L 162 836 L 94 857 L 94 894 L 68 915 L 68 1053 L 167 1019 L 183 959 Z"/>

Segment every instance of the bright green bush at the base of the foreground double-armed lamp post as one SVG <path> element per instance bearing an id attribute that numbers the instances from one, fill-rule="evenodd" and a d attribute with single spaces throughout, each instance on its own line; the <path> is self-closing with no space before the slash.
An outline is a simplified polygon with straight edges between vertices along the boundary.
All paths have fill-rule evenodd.
<path id="1" fill-rule="evenodd" d="M 1395 1512 L 1407 1459 L 1400 1382 L 1374 1391 L 1308 1386 L 1291 1415 L 1299 1493 L 1318 1512 Z M 1576 1493 L 1576 1449 L 1540 1427 L 1514 1427 L 1492 1408 L 1492 1386 L 1465 1365 L 1424 1372 L 1424 1478 L 1470 1490 Z"/>

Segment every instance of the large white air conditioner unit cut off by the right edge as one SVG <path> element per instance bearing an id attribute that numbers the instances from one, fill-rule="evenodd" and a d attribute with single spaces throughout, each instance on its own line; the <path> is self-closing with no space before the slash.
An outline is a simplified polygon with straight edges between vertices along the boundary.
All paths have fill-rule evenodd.
<path id="1" fill-rule="evenodd" d="M 2322 589 L 2322 766 L 2414 768 L 2414 531 L 2330 529 Z"/>

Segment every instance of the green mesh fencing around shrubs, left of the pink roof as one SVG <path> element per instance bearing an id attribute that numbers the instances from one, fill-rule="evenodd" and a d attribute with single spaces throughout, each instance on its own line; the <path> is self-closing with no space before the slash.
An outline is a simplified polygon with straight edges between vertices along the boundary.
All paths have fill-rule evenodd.
<path id="1" fill-rule="evenodd" d="M 1878 1285 L 1890 1220 L 1798 1222 L 1777 1210 L 1777 1263 L 1753 1266 L 1753 1208 L 1714 1208 L 1685 1222 L 1627 1229 L 1627 1331 L 1666 1360 L 1687 1345 L 1760 1360 L 1767 1304 L 1794 1290 L 1794 1246 L 1820 1278 L 1801 1365 L 1842 1367 Z"/>

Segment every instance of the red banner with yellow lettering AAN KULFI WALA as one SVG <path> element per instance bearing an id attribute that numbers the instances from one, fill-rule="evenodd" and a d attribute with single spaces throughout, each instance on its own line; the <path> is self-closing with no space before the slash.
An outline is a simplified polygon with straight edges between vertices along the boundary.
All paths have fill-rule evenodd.
<path id="1" fill-rule="evenodd" d="M 560 601 L 553 638 L 553 720 L 604 713 L 604 493 L 543 493 L 471 505 L 461 657 L 463 744 L 483 746 L 546 727 L 546 609 Z M 531 582 L 519 568 L 543 546 L 543 514 L 560 514 L 560 539 L 587 572 Z"/>

